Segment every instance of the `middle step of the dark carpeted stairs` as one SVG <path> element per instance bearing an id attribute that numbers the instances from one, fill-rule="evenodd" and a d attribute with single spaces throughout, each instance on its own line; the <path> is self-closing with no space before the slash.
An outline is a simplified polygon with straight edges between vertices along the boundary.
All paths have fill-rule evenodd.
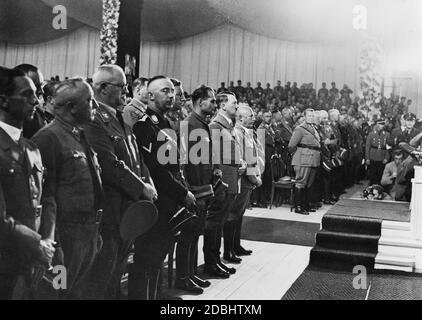
<path id="1" fill-rule="evenodd" d="M 316 245 L 327 249 L 374 253 L 379 236 L 322 230 L 316 235 Z"/>

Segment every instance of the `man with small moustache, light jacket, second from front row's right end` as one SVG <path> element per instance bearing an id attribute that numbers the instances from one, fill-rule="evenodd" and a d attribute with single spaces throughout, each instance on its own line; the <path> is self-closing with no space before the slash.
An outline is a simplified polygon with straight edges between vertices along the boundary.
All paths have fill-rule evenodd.
<path id="1" fill-rule="evenodd" d="M 228 190 L 214 197 L 205 218 L 204 231 L 204 272 L 207 275 L 228 278 L 236 269 L 221 262 L 220 247 L 224 223 L 240 192 L 240 175 L 246 169 L 241 165 L 240 149 L 236 142 L 234 120 L 237 112 L 237 99 L 231 92 L 217 95 L 220 110 L 209 125 L 212 139 L 213 164 L 223 174 Z"/>

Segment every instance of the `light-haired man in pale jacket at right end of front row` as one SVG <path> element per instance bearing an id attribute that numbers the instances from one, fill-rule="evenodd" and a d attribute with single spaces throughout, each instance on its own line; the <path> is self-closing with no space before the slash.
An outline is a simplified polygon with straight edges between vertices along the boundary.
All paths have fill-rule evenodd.
<path id="1" fill-rule="evenodd" d="M 242 220 L 249 205 L 252 190 L 262 185 L 261 173 L 258 168 L 258 150 L 254 140 L 253 125 L 255 115 L 248 106 L 240 106 L 237 110 L 235 125 L 236 139 L 240 144 L 241 159 L 247 164 L 246 172 L 241 176 L 240 194 L 236 197 L 232 209 L 224 224 L 224 255 L 227 262 L 240 263 L 238 256 L 252 254 L 240 244 Z"/>

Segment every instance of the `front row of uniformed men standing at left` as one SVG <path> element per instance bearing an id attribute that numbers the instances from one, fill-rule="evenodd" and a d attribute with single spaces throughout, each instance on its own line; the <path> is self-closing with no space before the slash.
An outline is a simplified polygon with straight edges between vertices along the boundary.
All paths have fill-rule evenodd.
<path id="1" fill-rule="evenodd" d="M 238 108 L 229 92 L 216 98 L 210 88 L 197 89 L 189 130 L 208 132 L 209 144 L 211 131 L 221 132 L 221 142 L 229 142 L 231 152 L 221 150 L 216 165 L 188 163 L 182 168 L 157 158 L 163 145 L 178 150 L 171 138 L 158 139 L 170 129 L 165 114 L 181 89 L 175 89 L 174 81 L 150 79 L 148 107 L 138 108 L 133 128 L 124 120 L 127 83 L 121 68 L 99 67 L 92 87 L 81 78 L 63 81 L 51 97 L 54 120 L 28 140 L 22 128 L 33 121 L 42 93 L 40 78 L 36 68 L 0 69 L 1 298 L 39 298 L 51 267 L 64 265 L 67 286 L 60 298 L 119 299 L 132 250 L 129 298 L 160 298 L 160 271 L 174 239 L 169 220 L 181 207 L 194 210 L 198 218 L 189 220 L 179 236 L 176 287 L 202 293 L 210 285 L 197 274 L 201 233 L 205 274 L 228 278 L 236 272 L 221 260 L 222 232 L 226 261 L 240 263 L 238 256 L 252 253 L 240 245 L 240 229 L 250 192 L 262 184 L 262 156 L 250 130 L 255 120 L 250 108 Z M 208 125 L 206 118 L 217 106 L 219 112 Z M 136 118 L 128 110 L 129 118 Z M 246 150 L 239 139 L 256 155 L 255 161 L 242 160 Z M 226 188 L 208 201 L 197 201 L 190 191 L 219 179 Z M 126 241 L 119 232 L 122 215 L 138 200 L 154 202 L 158 221 L 135 241 Z"/>

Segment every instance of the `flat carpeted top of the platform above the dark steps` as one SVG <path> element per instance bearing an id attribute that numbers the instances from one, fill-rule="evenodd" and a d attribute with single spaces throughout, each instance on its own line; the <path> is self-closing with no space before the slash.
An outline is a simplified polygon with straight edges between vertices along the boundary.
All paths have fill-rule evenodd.
<path id="1" fill-rule="evenodd" d="M 410 221 L 409 203 L 345 199 L 334 205 L 327 214 L 376 218 L 399 222 Z"/>

